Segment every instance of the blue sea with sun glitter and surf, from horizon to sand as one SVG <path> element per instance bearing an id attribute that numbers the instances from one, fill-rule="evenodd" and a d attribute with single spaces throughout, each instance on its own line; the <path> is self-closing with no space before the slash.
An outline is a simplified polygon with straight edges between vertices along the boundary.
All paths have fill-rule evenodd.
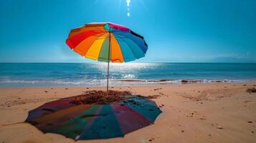
<path id="1" fill-rule="evenodd" d="M 106 63 L 1 63 L 0 87 L 105 86 Z M 256 81 L 256 64 L 110 64 L 110 86 Z"/>

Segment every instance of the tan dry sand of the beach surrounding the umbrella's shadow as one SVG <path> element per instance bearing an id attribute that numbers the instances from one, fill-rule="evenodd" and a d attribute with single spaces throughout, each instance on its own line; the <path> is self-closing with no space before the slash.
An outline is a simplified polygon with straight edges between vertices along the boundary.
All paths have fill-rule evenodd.
<path id="1" fill-rule="evenodd" d="M 112 87 L 156 97 L 162 110 L 155 124 L 113 139 L 78 142 L 256 142 L 256 87 L 251 83 L 211 83 Z M 1 142 L 75 142 L 60 134 L 43 134 L 24 123 L 29 110 L 63 97 L 104 87 L 0 88 Z"/>

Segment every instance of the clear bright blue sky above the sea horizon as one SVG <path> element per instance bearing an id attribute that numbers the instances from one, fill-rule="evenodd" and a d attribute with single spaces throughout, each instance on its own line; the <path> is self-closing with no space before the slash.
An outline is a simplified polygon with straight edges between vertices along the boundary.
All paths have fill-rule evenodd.
<path id="1" fill-rule="evenodd" d="M 144 36 L 137 61 L 256 62 L 254 0 L 1 0 L 0 62 L 87 62 L 70 29 L 111 21 Z"/>

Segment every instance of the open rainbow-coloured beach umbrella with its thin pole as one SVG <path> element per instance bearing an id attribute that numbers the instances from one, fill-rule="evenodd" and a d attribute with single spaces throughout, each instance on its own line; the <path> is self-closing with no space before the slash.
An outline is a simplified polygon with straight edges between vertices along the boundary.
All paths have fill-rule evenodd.
<path id="1" fill-rule="evenodd" d="M 66 43 L 81 56 L 108 62 L 108 78 L 110 62 L 122 63 L 140 59 L 148 50 L 143 36 L 110 22 L 90 23 L 72 29 Z"/>

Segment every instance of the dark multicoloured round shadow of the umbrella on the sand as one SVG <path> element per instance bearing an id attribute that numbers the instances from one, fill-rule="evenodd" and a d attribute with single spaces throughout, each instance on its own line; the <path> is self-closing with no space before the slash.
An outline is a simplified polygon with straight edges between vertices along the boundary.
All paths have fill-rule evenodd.
<path id="1" fill-rule="evenodd" d="M 108 139 L 124 137 L 151 125 L 161 114 L 156 103 L 148 97 L 122 92 L 122 96 L 107 97 L 110 102 L 102 102 L 100 99 L 105 97 L 98 97 L 101 92 L 90 92 L 89 97 L 80 95 L 48 102 L 30 111 L 26 122 L 44 133 L 62 134 L 75 140 Z M 92 93 L 96 94 L 91 96 Z"/>

